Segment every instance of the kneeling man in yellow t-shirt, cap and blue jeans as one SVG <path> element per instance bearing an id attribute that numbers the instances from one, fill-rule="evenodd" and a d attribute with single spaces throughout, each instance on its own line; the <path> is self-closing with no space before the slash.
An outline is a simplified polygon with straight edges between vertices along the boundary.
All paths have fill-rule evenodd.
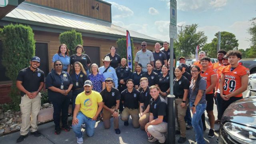
<path id="1" fill-rule="evenodd" d="M 82 144 L 84 142 L 81 131 L 82 124 L 86 125 L 87 136 L 93 136 L 96 120 L 103 107 L 102 97 L 99 92 L 92 90 L 90 80 L 84 82 L 84 92 L 78 94 L 75 104 L 72 129 L 76 134 L 76 142 Z"/>

